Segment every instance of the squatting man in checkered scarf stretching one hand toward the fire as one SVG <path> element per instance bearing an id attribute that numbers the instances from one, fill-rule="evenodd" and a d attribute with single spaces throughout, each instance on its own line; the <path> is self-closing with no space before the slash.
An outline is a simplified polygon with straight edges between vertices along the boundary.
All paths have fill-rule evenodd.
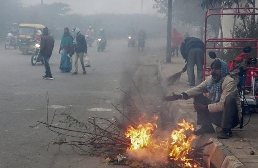
<path id="1" fill-rule="evenodd" d="M 239 124 L 241 118 L 241 104 L 236 81 L 230 77 L 227 64 L 216 59 L 211 64 L 211 75 L 198 86 L 184 91 L 181 94 L 174 94 L 165 97 L 165 101 L 174 101 L 193 97 L 194 108 L 197 111 L 197 124 L 202 125 L 194 131 L 195 135 L 213 133 L 212 124 L 221 127 L 222 131 L 217 136 L 220 139 L 227 139 L 232 136 L 231 128 Z M 208 93 L 208 97 L 203 93 Z"/>

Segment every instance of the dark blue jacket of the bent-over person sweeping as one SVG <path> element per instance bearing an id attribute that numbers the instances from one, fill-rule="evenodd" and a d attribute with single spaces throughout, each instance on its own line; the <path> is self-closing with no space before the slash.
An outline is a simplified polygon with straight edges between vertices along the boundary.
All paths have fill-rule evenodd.
<path id="1" fill-rule="evenodd" d="M 193 48 L 204 50 L 204 43 L 196 37 L 187 37 L 181 44 L 180 52 L 183 58 L 187 61 L 188 52 Z"/>

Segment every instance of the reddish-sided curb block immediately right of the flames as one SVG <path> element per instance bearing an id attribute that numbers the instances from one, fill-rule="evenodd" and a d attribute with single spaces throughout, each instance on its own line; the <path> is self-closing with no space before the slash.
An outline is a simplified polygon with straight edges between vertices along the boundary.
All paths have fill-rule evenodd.
<path id="1" fill-rule="evenodd" d="M 204 161 L 205 165 L 206 165 L 208 168 L 210 168 L 210 167 L 211 167 L 211 159 L 212 159 L 212 157 L 213 157 L 213 155 L 214 155 L 214 152 L 215 152 L 216 148 L 217 148 L 218 146 L 223 146 L 223 144 L 220 143 L 220 141 L 218 141 L 218 140 L 215 139 L 215 138 L 210 138 L 210 139 L 208 140 L 208 142 L 213 142 L 213 143 L 210 144 L 210 145 L 208 145 L 208 146 L 206 146 L 206 147 L 204 147 L 203 153 L 205 153 L 205 154 L 207 154 L 207 155 L 209 155 L 209 156 L 203 156 L 203 161 Z M 208 143 L 208 142 L 207 142 L 207 143 Z"/>

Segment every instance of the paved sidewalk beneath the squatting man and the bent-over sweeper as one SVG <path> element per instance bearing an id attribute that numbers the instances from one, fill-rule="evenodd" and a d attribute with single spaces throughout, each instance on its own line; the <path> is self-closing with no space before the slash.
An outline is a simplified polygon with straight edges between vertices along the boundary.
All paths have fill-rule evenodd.
<path id="1" fill-rule="evenodd" d="M 172 95 L 172 92 L 179 94 L 189 89 L 186 72 L 175 85 L 167 86 L 166 84 L 169 76 L 183 68 L 183 58 L 172 58 L 172 63 L 164 62 L 159 62 L 157 69 L 158 78 L 166 95 Z M 169 116 L 175 124 L 185 119 L 197 126 L 197 113 L 194 112 L 192 102 L 193 99 L 167 102 Z M 249 115 L 244 117 L 244 123 L 247 123 Z M 204 156 L 204 162 L 208 168 L 258 168 L 258 114 L 251 113 L 248 125 L 243 129 L 234 128 L 232 132 L 233 136 L 224 140 L 216 139 L 217 133 L 198 136 L 193 146 L 201 146 L 209 141 L 214 142 L 204 148 L 204 153 L 209 155 Z M 254 151 L 254 155 L 250 155 L 250 151 Z"/>

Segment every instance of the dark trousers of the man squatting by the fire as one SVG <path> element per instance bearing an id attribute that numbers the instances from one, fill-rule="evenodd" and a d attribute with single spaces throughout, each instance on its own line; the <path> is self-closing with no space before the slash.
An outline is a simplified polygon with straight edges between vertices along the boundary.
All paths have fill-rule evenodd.
<path id="1" fill-rule="evenodd" d="M 193 97 L 193 102 L 203 105 L 211 104 L 211 101 L 203 94 Z M 221 128 L 235 128 L 239 124 L 237 102 L 233 95 L 226 97 L 224 111 L 214 113 L 208 110 L 197 111 L 197 125 L 207 126 L 211 123 Z"/>

